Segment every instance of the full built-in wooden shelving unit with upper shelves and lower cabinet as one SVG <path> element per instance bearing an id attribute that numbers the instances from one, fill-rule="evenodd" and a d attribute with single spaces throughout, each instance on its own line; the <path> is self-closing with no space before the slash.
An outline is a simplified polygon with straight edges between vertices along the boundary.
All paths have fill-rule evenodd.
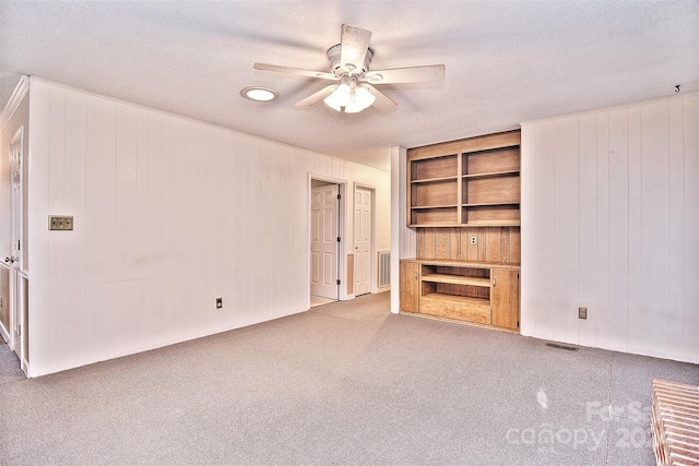
<path id="1" fill-rule="evenodd" d="M 520 167 L 519 131 L 407 151 L 401 312 L 519 332 Z"/>

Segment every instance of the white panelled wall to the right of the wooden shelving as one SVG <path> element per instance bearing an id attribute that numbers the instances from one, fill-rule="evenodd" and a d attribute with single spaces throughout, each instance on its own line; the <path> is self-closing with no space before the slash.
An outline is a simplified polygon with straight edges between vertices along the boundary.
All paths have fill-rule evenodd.
<path id="1" fill-rule="evenodd" d="M 699 362 L 698 284 L 699 94 L 522 124 L 522 334 Z"/>

